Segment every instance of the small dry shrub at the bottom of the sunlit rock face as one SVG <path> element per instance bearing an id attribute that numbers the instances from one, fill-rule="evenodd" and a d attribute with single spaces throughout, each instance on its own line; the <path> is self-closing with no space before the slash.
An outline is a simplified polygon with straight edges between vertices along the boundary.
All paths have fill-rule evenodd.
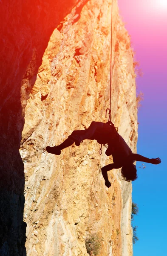
<path id="1" fill-rule="evenodd" d="M 99 253 L 102 239 L 96 235 L 91 235 L 85 240 L 87 253 L 91 256 L 96 256 Z"/>

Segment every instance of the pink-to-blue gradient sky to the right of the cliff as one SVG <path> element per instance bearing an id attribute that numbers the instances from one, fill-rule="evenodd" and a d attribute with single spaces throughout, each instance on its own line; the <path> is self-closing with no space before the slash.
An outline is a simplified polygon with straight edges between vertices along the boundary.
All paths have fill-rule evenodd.
<path id="1" fill-rule="evenodd" d="M 118 0 L 119 12 L 131 37 L 142 77 L 136 79 L 144 101 L 138 112 L 137 153 L 161 158 L 161 164 L 137 162 L 132 183 L 134 218 L 139 241 L 133 256 L 166 256 L 167 233 L 167 0 Z"/>

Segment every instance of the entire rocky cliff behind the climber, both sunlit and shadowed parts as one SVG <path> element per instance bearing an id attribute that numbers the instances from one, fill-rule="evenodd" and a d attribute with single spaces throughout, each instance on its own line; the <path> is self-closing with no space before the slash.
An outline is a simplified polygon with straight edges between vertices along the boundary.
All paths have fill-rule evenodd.
<path id="1" fill-rule="evenodd" d="M 65 148 L 60 156 L 45 151 L 47 145 L 62 143 L 73 130 L 88 128 L 92 121 L 107 122 L 110 2 L 71 0 L 68 5 L 60 6 L 53 1 L 39 1 L 34 9 L 33 5 L 27 6 L 33 14 L 41 10 L 33 16 L 34 26 L 30 26 L 30 18 L 28 25 L 23 24 L 27 28 L 23 30 L 25 37 L 30 39 L 27 50 L 31 56 L 20 67 L 23 54 L 17 52 L 20 62 L 15 61 L 12 66 L 12 72 L 16 70 L 15 84 L 11 86 L 10 76 L 1 104 L 2 255 L 8 252 L 28 256 L 86 256 L 85 241 L 90 238 L 98 238 L 99 256 L 133 254 L 131 183 L 122 180 L 120 170 L 112 170 L 111 187 L 105 187 L 101 167 L 112 162 L 112 157 L 105 155 L 105 146 L 102 155 L 99 155 L 100 145 L 92 140 L 85 140 L 79 147 Z M 23 3 L 20 6 L 26 10 Z M 28 12 L 26 17 L 30 15 Z M 44 13 L 46 23 L 41 24 L 40 15 Z M 19 35 L 22 40 L 18 39 L 18 47 L 22 49 L 27 41 Z M 115 0 L 112 81 L 112 121 L 135 152 L 133 52 Z M 11 88 L 11 92 L 6 88 Z"/>

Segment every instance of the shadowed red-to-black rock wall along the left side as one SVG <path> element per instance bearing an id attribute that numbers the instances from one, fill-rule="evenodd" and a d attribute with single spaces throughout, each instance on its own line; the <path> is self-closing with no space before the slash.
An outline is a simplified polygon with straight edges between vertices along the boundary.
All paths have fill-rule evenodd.
<path id="1" fill-rule="evenodd" d="M 0 255 L 26 255 L 24 164 L 19 148 L 26 106 L 20 93 L 23 80 L 32 80 L 42 62 L 53 30 L 76 6 L 88 0 L 21 0 L 1 3 L 0 67 Z M 75 22 L 75 20 L 74 20 Z M 62 24 L 62 23 L 61 23 Z M 61 29 L 61 27 L 59 28 Z M 32 79 L 31 79 L 32 78 Z"/>

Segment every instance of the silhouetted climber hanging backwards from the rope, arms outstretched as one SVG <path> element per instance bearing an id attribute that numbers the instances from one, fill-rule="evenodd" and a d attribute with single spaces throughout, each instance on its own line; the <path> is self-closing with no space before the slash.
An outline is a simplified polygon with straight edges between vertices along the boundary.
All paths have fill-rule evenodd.
<path id="1" fill-rule="evenodd" d="M 108 188 L 111 186 L 108 180 L 107 172 L 112 169 L 121 169 L 122 177 L 124 180 L 130 182 L 130 180 L 136 180 L 137 170 L 133 164 L 135 161 L 142 161 L 146 163 L 159 164 L 161 160 L 157 158 L 147 158 L 139 154 L 133 154 L 130 147 L 125 140 L 116 131 L 113 125 L 103 122 L 92 122 L 88 129 L 73 131 L 72 134 L 62 144 L 54 147 L 46 147 L 46 151 L 51 154 L 59 155 L 63 148 L 71 146 L 74 142 L 76 146 L 79 146 L 82 140 L 96 140 L 99 144 L 108 144 L 108 148 L 105 151 L 107 156 L 113 156 L 113 163 L 102 167 L 102 175 L 105 179 L 105 186 Z"/>

